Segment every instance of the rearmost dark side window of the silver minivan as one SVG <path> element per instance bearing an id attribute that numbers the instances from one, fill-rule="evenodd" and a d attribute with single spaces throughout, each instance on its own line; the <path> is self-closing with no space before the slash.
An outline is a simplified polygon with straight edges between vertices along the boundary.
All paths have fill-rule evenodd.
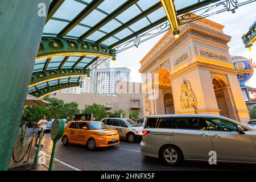
<path id="1" fill-rule="evenodd" d="M 147 118 L 145 128 L 172 128 L 172 118 Z"/>

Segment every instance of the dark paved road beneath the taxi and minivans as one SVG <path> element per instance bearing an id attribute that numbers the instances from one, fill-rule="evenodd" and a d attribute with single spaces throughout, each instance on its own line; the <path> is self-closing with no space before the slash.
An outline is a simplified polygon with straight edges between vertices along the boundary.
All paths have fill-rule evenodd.
<path id="1" fill-rule="evenodd" d="M 51 154 L 52 141 L 49 134 L 43 139 L 42 150 Z M 159 159 L 145 157 L 140 152 L 140 144 L 121 140 L 119 145 L 98 148 L 89 151 L 86 146 L 57 143 L 55 158 L 77 169 L 88 171 L 172 171 L 172 170 L 256 170 L 256 165 L 218 163 L 210 165 L 204 162 L 184 162 L 180 166 L 170 167 Z M 59 168 L 61 170 L 61 168 Z M 58 170 L 57 168 L 55 170 Z"/>

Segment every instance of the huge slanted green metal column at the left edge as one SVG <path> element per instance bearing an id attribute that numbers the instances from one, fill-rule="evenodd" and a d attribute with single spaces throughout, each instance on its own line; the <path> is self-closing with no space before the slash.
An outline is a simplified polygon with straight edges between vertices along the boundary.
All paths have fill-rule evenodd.
<path id="1" fill-rule="evenodd" d="M 9 168 L 50 2 L 8 0 L 0 3 L 1 171 Z"/>

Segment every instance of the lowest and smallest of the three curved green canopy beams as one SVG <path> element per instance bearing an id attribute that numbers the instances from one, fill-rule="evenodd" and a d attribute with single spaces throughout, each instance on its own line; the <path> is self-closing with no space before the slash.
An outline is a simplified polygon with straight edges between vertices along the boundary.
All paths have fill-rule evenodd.
<path id="1" fill-rule="evenodd" d="M 29 94 L 35 97 L 42 98 L 60 90 L 77 88 L 77 87 L 80 87 L 80 82 L 67 82 L 63 84 L 55 84 L 55 85 L 44 87 L 42 89 L 34 90 L 33 92 L 29 92 Z"/>

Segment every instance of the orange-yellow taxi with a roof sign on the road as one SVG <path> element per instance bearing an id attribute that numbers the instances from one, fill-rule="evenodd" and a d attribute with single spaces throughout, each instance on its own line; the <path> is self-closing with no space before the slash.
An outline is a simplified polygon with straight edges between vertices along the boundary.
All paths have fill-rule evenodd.
<path id="1" fill-rule="evenodd" d="M 86 145 L 89 150 L 119 144 L 117 131 L 108 129 L 98 121 L 71 121 L 65 126 L 62 137 L 64 145 L 69 143 Z"/>

